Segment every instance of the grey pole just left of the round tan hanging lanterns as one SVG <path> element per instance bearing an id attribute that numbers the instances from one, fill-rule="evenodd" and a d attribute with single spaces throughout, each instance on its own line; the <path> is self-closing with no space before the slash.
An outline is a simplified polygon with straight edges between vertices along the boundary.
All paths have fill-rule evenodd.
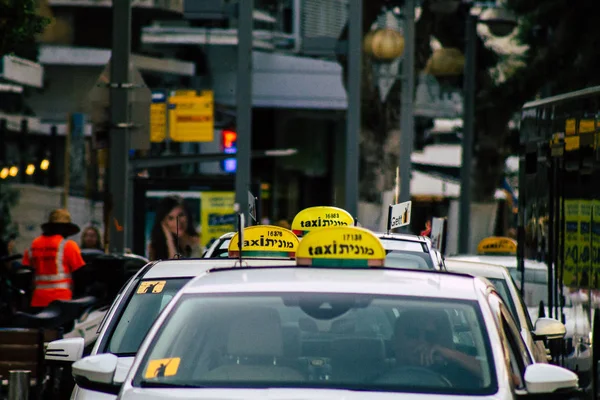
<path id="1" fill-rule="evenodd" d="M 362 0 L 350 0 L 348 17 L 348 109 L 346 110 L 345 208 L 358 217 L 358 164 L 360 157 L 360 82 L 362 67 Z"/>

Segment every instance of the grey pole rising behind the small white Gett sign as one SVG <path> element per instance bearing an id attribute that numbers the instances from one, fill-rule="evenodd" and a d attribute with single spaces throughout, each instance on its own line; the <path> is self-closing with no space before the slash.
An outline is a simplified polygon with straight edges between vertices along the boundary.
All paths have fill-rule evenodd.
<path id="1" fill-rule="evenodd" d="M 400 110 L 400 202 L 409 201 L 415 140 L 413 95 L 415 92 L 415 0 L 404 2 L 404 58 L 402 60 L 402 104 Z M 408 231 L 409 226 L 400 228 Z"/>

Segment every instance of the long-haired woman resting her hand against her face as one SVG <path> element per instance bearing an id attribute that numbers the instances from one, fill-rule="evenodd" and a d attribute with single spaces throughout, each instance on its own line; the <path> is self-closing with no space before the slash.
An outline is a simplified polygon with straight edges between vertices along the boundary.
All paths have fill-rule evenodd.
<path id="1" fill-rule="evenodd" d="M 200 257 L 200 235 L 190 221 L 183 199 L 168 196 L 158 204 L 150 234 L 151 260 L 168 260 L 177 255 Z"/>

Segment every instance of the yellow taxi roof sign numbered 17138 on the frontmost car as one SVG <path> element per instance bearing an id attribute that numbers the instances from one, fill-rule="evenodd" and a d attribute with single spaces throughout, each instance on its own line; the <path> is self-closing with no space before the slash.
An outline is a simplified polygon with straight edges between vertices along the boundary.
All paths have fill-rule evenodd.
<path id="1" fill-rule="evenodd" d="M 368 229 L 355 226 L 322 228 L 298 245 L 296 264 L 313 267 L 382 267 L 385 249 Z"/>

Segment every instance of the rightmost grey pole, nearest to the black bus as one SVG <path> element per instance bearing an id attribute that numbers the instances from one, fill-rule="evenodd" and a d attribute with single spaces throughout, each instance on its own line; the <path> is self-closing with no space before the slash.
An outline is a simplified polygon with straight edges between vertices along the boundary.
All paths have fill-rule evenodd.
<path id="1" fill-rule="evenodd" d="M 473 136 L 475 135 L 475 68 L 478 17 L 467 15 L 464 72 L 462 167 L 460 169 L 460 206 L 458 211 L 458 251 L 470 252 L 471 175 L 473 171 Z"/>

